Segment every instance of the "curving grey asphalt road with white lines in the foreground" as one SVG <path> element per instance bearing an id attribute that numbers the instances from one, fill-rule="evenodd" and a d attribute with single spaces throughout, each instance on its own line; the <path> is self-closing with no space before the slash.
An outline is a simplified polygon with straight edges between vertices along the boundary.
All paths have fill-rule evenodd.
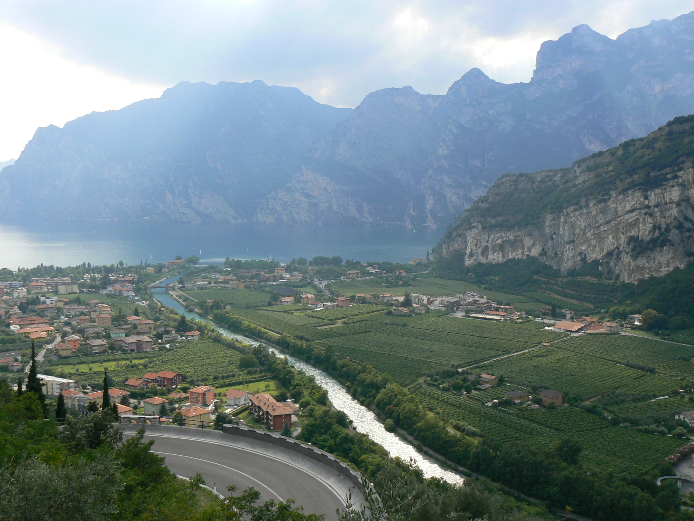
<path id="1" fill-rule="evenodd" d="M 130 435 L 128 432 L 125 434 Z M 305 513 L 325 514 L 326 520 L 337 520 L 335 509 L 344 507 L 340 494 L 344 490 L 335 486 L 335 479 L 339 478 L 330 478 L 329 473 L 335 471 L 325 465 L 316 468 L 317 462 L 312 461 L 307 462 L 307 468 L 302 468 L 304 465 L 301 461 L 298 464 L 282 461 L 281 454 L 272 454 L 275 447 L 269 444 L 253 446 L 241 443 L 246 446 L 232 446 L 214 440 L 159 436 L 155 433 L 144 437 L 144 441 L 150 439 L 155 440 L 152 452 L 166 458 L 171 472 L 183 477 L 191 477 L 199 472 L 207 486 L 216 486 L 217 492 L 224 496 L 230 495 L 226 490 L 229 485 L 237 486 L 236 495 L 252 486 L 260 491 L 260 502 L 267 499 L 280 502 L 291 498 L 296 506 L 303 506 Z M 269 446 L 269 454 L 259 452 L 257 447 L 262 450 L 262 445 Z M 335 474 L 337 476 L 337 472 Z"/>

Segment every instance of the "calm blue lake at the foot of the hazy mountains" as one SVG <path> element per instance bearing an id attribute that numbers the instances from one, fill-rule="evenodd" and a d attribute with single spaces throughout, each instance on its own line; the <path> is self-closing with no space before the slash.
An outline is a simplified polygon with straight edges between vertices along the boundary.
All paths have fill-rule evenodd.
<path id="1" fill-rule="evenodd" d="M 203 263 L 231 258 L 335 256 L 359 261 L 407 262 L 423 257 L 443 229 L 404 226 L 272 226 L 45 220 L 0 224 L 0 267 L 76 265 L 83 262 L 139 264 L 197 255 Z M 202 251 L 202 254 L 200 254 Z"/>

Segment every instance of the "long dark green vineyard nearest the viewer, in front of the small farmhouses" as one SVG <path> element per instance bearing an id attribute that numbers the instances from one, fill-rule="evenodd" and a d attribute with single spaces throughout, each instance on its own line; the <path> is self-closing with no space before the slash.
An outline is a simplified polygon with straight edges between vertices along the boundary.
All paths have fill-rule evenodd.
<path id="1" fill-rule="evenodd" d="M 501 397 L 505 386 L 498 388 Z M 494 409 L 468 397 L 458 397 L 423 386 L 415 395 L 444 417 L 463 420 L 480 429 L 485 438 L 518 440 L 551 447 L 570 436 L 583 445 L 581 461 L 603 472 L 636 475 L 646 472 L 675 452 L 684 442 L 668 436 L 610 427 L 600 417 L 564 406 L 554 411 L 514 407 Z"/>

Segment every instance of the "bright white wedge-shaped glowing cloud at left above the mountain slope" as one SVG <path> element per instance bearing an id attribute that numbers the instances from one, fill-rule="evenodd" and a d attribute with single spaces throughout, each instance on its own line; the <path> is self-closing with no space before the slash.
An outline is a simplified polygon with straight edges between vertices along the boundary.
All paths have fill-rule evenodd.
<path id="1" fill-rule="evenodd" d="M 17 158 L 37 127 L 158 97 L 133 83 L 60 56 L 55 45 L 0 23 L 0 160 Z"/>

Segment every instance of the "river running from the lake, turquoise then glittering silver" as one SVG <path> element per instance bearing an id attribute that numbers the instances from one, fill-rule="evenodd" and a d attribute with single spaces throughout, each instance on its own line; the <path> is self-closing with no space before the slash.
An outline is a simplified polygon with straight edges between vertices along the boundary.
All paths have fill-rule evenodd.
<path id="1" fill-rule="evenodd" d="M 170 284 L 176 282 L 177 280 L 178 276 L 173 276 L 171 279 L 164 281 L 164 283 Z M 153 292 L 157 292 L 157 298 L 165 306 L 176 309 L 178 313 L 183 313 L 186 315 L 186 317 L 212 323 L 214 328 L 224 336 L 234 338 L 235 340 L 239 340 L 240 342 L 245 342 L 246 344 L 250 345 L 257 345 L 259 343 L 256 340 L 251 340 L 251 338 L 246 338 L 245 336 L 218 326 L 217 324 L 214 324 L 214 322 L 200 317 L 195 313 L 185 311 L 183 306 L 181 306 L 178 301 L 172 298 L 171 295 L 164 290 L 153 290 Z M 332 405 L 340 411 L 343 411 L 347 417 L 352 420 L 353 427 L 355 427 L 355 429 L 357 429 L 359 432 L 368 434 L 369 438 L 384 447 L 384 449 L 386 449 L 391 456 L 400 456 L 400 458 L 403 458 L 405 461 L 409 460 L 409 458 L 413 458 L 419 468 L 421 468 L 425 477 L 439 477 L 441 479 L 445 479 L 449 483 L 462 483 L 464 481 L 459 474 L 441 467 L 441 465 L 439 465 L 434 458 L 422 454 L 415 447 L 409 445 L 409 443 L 406 443 L 398 438 L 398 436 L 395 434 L 384 429 L 383 424 L 378 421 L 375 414 L 368 408 L 362 406 L 362 404 L 359 404 L 359 402 L 357 402 L 357 400 L 355 400 L 349 394 L 349 392 L 347 392 L 346 388 L 344 388 L 344 386 L 342 386 L 337 379 L 317 369 L 313 365 L 305 363 L 294 356 L 289 356 L 286 353 L 280 352 L 274 347 L 269 346 L 269 349 L 278 356 L 286 356 L 289 363 L 294 365 L 294 367 L 297 369 L 301 369 L 306 374 L 311 374 L 316 379 L 316 383 L 328 390 L 328 398 L 330 398 Z"/>

